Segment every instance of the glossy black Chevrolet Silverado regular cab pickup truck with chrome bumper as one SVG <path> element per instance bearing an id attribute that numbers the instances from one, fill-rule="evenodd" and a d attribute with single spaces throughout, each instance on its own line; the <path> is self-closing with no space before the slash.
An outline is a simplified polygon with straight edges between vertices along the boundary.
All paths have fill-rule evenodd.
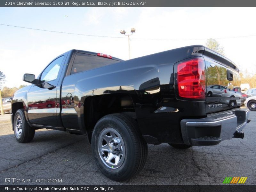
<path id="1" fill-rule="evenodd" d="M 193 45 L 123 61 L 80 50 L 61 54 L 12 100 L 20 143 L 46 128 L 87 135 L 100 171 L 121 181 L 144 166 L 148 144 L 174 148 L 243 138 L 239 69 Z M 234 92 L 234 93 L 233 93 Z"/>

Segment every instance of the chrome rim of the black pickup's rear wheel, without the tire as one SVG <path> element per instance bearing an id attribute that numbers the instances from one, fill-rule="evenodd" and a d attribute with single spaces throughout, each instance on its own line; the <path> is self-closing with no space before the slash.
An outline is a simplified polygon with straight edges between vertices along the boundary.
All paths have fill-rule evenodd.
<path id="1" fill-rule="evenodd" d="M 99 135 L 98 152 L 101 161 L 108 168 L 116 169 L 124 162 L 124 140 L 115 129 L 105 128 L 100 132 Z"/>

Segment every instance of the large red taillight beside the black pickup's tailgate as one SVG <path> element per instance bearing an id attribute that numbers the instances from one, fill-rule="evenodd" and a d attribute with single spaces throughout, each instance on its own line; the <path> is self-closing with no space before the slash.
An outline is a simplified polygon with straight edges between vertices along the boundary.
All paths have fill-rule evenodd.
<path id="1" fill-rule="evenodd" d="M 180 97 L 205 98 L 205 64 L 203 58 L 181 61 L 177 67 L 178 91 Z"/>

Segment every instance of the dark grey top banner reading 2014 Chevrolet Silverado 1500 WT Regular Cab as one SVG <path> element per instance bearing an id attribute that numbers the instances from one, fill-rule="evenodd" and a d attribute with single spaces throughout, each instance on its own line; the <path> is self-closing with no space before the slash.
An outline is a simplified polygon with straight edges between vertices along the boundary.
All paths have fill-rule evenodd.
<path id="1" fill-rule="evenodd" d="M 1 0 L 0 7 L 256 7 L 255 0 Z"/>

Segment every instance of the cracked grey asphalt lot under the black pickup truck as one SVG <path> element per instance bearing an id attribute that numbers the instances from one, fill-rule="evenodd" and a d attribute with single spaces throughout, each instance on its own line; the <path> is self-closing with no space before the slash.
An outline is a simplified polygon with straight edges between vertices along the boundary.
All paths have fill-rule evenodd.
<path id="1" fill-rule="evenodd" d="M 31 185 L 222 185 L 225 177 L 248 177 L 256 185 L 256 112 L 244 129 L 244 139 L 186 150 L 168 144 L 148 145 L 144 169 L 124 182 L 109 180 L 99 171 L 86 136 L 61 131 L 36 131 L 32 142 L 21 144 L 12 132 L 9 115 L 0 117 L 0 185 L 5 178 L 61 179 L 61 183 Z"/>

